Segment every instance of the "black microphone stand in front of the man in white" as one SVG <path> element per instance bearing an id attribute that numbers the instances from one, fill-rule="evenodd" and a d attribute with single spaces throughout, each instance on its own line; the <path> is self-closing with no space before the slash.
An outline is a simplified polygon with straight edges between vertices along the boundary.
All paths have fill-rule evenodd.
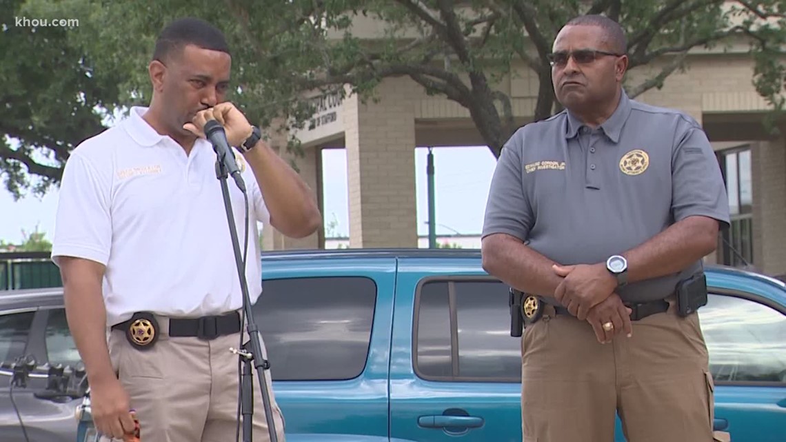
<path id="1" fill-rule="evenodd" d="M 226 208 L 226 219 L 230 224 L 230 236 L 232 238 L 232 245 L 235 252 L 235 263 L 237 264 L 237 274 L 241 281 L 241 290 L 243 292 L 243 311 L 244 316 L 247 318 L 246 330 L 248 331 L 249 341 L 243 344 L 240 350 L 230 348 L 230 351 L 237 354 L 243 363 L 243 374 L 241 376 L 241 410 L 243 414 L 243 442 L 252 441 L 253 430 L 253 416 L 254 416 L 254 391 L 253 391 L 253 376 L 252 376 L 252 363 L 256 369 L 257 378 L 259 378 L 259 388 L 262 392 L 263 406 L 265 407 L 265 418 L 267 420 L 267 429 L 270 433 L 270 442 L 278 442 L 276 436 L 275 423 L 273 419 L 273 410 L 270 407 L 270 393 L 267 391 L 267 382 L 265 378 L 265 370 L 270 368 L 270 363 L 263 358 L 261 338 L 259 337 L 259 329 L 254 321 L 252 311 L 251 298 L 248 296 L 248 282 L 246 281 L 245 266 L 241 257 L 240 241 L 237 238 L 237 227 L 235 226 L 232 201 L 230 200 L 229 186 L 226 180 L 229 176 L 226 168 L 226 163 L 222 156 L 221 149 L 218 149 L 215 143 L 211 143 L 217 155 L 215 161 L 215 176 L 221 182 L 221 192 L 224 197 L 224 207 Z M 231 149 L 231 148 L 230 148 Z M 232 153 L 224 153 L 231 155 Z M 238 179 L 241 177 L 238 175 Z M 245 194 L 246 190 L 238 186 Z M 243 186 L 244 187 L 244 186 Z M 246 210 L 248 211 L 248 197 L 246 198 Z M 248 229 L 248 226 L 246 226 Z M 248 245 L 246 245 L 248 247 Z"/>

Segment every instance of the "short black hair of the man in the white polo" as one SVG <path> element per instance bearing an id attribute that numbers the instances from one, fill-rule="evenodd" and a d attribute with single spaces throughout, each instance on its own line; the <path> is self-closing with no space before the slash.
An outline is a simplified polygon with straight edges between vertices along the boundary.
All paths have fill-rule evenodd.
<path id="1" fill-rule="evenodd" d="M 174 20 L 163 28 L 156 39 L 156 49 L 153 50 L 152 58 L 167 61 L 172 56 L 179 55 L 187 45 L 218 50 L 231 55 L 222 31 L 205 20 L 185 17 Z"/>

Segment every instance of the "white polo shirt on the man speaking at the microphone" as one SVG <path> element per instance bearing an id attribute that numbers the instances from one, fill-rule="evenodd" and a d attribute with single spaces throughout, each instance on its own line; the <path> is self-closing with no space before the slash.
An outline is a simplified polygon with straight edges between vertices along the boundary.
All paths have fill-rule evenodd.
<path id="1" fill-rule="evenodd" d="M 197 140 L 186 156 L 141 118 L 146 108 L 79 144 L 61 182 L 53 258 L 76 256 L 106 266 L 108 326 L 135 311 L 197 317 L 242 307 L 242 292 L 215 151 Z M 236 153 L 251 204 L 246 277 L 254 302 L 262 290 L 257 222 L 268 223 L 251 168 Z M 241 250 L 244 197 L 230 189 Z"/>

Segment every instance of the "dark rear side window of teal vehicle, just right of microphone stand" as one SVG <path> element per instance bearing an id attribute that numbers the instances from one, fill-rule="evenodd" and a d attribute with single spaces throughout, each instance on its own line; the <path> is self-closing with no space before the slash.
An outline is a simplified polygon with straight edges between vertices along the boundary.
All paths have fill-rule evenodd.
<path id="1" fill-rule="evenodd" d="M 363 277 L 263 282 L 254 317 L 274 381 L 336 381 L 365 368 L 376 283 Z"/>

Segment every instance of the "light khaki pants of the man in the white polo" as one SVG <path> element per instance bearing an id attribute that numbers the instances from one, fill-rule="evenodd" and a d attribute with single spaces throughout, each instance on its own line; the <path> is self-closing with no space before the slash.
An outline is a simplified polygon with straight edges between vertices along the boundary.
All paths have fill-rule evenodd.
<path id="1" fill-rule="evenodd" d="M 167 319 L 157 318 L 159 332 Z M 230 348 L 241 344 L 240 333 L 202 341 L 196 337 L 169 337 L 160 333 L 153 348 L 140 351 L 123 331 L 108 338 L 112 365 L 130 396 L 144 442 L 226 442 L 234 439 L 237 425 L 238 356 Z M 244 341 L 248 335 L 244 333 Z M 259 378 L 254 382 L 255 442 L 269 442 Z M 265 372 L 277 439 L 285 442 L 284 418 L 274 399 L 270 371 Z M 243 436 L 242 415 L 240 437 Z M 106 440 L 106 439 L 103 439 Z"/>

